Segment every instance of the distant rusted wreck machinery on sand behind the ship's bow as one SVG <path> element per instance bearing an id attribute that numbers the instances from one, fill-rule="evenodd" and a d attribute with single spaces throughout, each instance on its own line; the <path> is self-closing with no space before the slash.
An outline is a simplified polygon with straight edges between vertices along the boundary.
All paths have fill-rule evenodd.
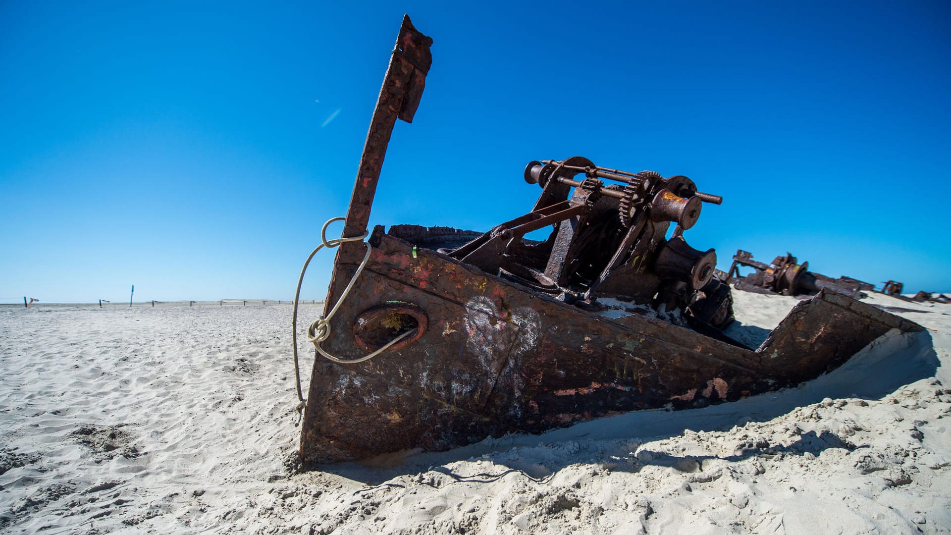
<path id="1" fill-rule="evenodd" d="M 740 267 L 753 268 L 753 272 L 746 276 L 740 275 Z M 799 264 L 795 256 L 786 253 L 786 256 L 777 256 L 769 264 L 753 260 L 752 253 L 738 249 L 733 255 L 733 264 L 730 265 L 726 283 L 736 279 L 733 284 L 737 289 L 760 293 L 781 293 L 783 295 L 816 295 L 820 290 L 835 291 L 853 299 L 863 297 L 863 291 L 872 291 L 874 285 L 853 279 L 839 277 L 833 279 L 822 273 L 813 273 L 808 270 L 809 263 Z"/>

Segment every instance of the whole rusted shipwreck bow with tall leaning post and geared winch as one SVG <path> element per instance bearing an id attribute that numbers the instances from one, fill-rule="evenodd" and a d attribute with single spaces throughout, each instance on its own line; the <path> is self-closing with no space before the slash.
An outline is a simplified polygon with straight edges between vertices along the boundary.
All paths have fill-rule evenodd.
<path id="1" fill-rule="evenodd" d="M 732 401 L 817 377 L 889 329 L 922 329 L 820 288 L 761 347 L 744 347 L 716 328 L 729 323 L 731 297 L 712 276 L 715 252 L 683 236 L 719 197 L 683 176 L 580 157 L 531 162 L 524 178 L 542 188 L 534 208 L 488 232 L 378 226 L 360 241 L 431 44 L 404 18 L 342 238 L 324 239 L 340 249 L 324 316 L 307 329 L 320 354 L 304 464 Z M 547 227 L 547 239 L 525 239 Z"/>

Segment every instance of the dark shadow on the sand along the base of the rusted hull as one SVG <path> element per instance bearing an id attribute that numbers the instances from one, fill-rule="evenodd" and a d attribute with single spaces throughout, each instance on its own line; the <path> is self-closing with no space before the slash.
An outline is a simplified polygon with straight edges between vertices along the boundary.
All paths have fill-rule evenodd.
<path id="1" fill-rule="evenodd" d="M 521 472 L 544 481 L 559 469 L 579 462 L 621 463 L 612 469 L 637 471 L 645 465 L 673 466 L 682 471 L 698 471 L 703 457 L 675 457 L 641 450 L 631 453 L 640 444 L 675 437 L 685 430 L 725 431 L 746 422 L 767 422 L 798 406 L 818 403 L 825 398 L 863 398 L 878 400 L 909 383 L 935 376 L 940 361 L 931 334 L 927 331 L 905 334 L 891 331 L 856 353 L 843 366 L 795 388 L 752 396 L 731 403 L 687 410 L 639 410 L 554 429 L 540 435 L 506 435 L 486 439 L 472 446 L 445 452 L 390 455 L 367 464 L 341 463 L 312 466 L 327 473 L 369 485 L 378 485 L 404 474 L 435 470 L 462 482 L 492 482 L 500 477 Z M 805 433 L 790 446 L 753 445 L 747 453 L 721 457 L 740 461 L 750 455 L 763 454 L 764 448 L 774 452 L 802 455 L 806 451 L 818 455 L 828 447 L 855 446 L 828 434 Z M 514 449 L 534 449 L 526 455 Z M 467 459 L 484 458 L 495 465 L 508 466 L 500 473 L 459 476 L 447 465 Z M 624 462 L 627 459 L 627 462 Z M 712 457 L 708 457 L 712 459 Z"/>

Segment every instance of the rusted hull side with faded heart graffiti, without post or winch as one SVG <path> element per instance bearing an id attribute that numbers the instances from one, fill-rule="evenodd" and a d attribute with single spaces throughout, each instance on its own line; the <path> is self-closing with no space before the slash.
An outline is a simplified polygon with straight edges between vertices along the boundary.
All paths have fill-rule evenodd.
<path id="1" fill-rule="evenodd" d="M 732 401 L 817 377 L 891 328 L 922 329 L 821 291 L 752 350 L 639 315 L 600 316 L 435 250 L 414 255 L 415 244 L 381 227 L 370 244 L 323 347 L 344 358 L 374 348 L 359 340 L 360 318 L 379 317 L 372 312 L 382 306 L 412 306 L 426 326 L 412 343 L 357 365 L 317 360 L 301 433 L 305 463 L 440 451 L 634 409 Z M 359 250 L 340 251 L 330 296 L 361 259 Z"/>

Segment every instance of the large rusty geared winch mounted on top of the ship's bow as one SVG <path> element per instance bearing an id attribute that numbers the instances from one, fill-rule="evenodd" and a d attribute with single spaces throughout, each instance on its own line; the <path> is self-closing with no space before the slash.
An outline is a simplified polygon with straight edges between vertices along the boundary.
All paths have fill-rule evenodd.
<path id="1" fill-rule="evenodd" d="M 530 162 L 524 177 L 542 188 L 532 211 L 442 252 L 589 309 L 611 297 L 683 310 L 690 323 L 732 320 L 729 293 L 718 292 L 723 284 L 713 278 L 716 252 L 691 248 L 683 236 L 702 203 L 721 197 L 698 192 L 686 176 L 601 168 L 580 156 Z M 552 228 L 547 240 L 523 239 L 540 228 Z"/>

